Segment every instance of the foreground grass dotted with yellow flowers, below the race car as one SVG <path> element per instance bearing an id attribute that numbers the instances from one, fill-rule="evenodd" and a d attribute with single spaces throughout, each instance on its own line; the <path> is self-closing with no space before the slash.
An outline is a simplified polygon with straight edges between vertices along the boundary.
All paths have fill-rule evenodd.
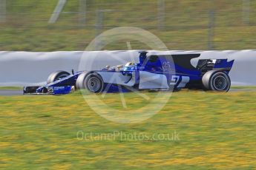
<path id="1" fill-rule="evenodd" d="M 79 92 L 0 97 L 0 169 L 255 169 L 255 97 L 256 92 L 175 92 L 157 115 L 135 124 L 102 118 Z M 131 114 L 146 104 L 135 93 L 125 99 Z M 122 109 L 119 94 L 106 95 L 104 102 Z M 79 140 L 79 131 L 93 135 Z M 177 132 L 180 140 L 97 135 L 113 132 Z"/>

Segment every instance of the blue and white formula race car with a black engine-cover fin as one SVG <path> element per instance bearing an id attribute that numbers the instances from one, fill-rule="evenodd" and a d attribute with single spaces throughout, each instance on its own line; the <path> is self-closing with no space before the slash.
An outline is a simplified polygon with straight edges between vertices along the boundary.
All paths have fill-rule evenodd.
<path id="1" fill-rule="evenodd" d="M 197 67 L 192 58 L 200 54 L 147 55 L 139 52 L 140 62 L 125 66 L 105 67 L 90 72 L 53 72 L 45 86 L 26 86 L 24 94 L 68 94 L 74 89 L 90 92 L 132 92 L 134 90 L 205 89 L 227 92 L 231 86 L 229 71 L 233 61 L 200 59 Z"/>

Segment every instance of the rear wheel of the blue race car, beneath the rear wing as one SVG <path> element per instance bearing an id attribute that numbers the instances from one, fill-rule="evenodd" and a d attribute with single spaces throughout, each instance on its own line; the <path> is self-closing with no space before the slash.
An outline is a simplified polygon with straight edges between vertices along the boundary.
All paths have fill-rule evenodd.
<path id="1" fill-rule="evenodd" d="M 228 92 L 231 86 L 229 75 L 217 70 L 206 72 L 203 75 L 202 82 L 205 89 L 216 92 Z"/>

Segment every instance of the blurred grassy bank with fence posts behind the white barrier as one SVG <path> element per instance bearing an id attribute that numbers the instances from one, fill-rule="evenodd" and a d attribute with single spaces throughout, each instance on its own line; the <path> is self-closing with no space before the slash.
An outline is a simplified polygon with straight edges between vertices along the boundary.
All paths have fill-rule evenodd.
<path id="1" fill-rule="evenodd" d="M 255 49 L 256 1 L 0 0 L 1 51 L 85 50 L 122 26 L 154 33 L 169 50 Z M 104 50 L 127 50 L 125 41 Z"/>

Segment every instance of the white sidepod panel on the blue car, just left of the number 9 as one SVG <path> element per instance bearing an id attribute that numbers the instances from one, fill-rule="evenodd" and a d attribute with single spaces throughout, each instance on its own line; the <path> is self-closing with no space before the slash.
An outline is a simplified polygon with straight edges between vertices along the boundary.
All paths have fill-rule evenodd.
<path id="1" fill-rule="evenodd" d="M 139 89 L 168 89 L 165 75 L 140 71 Z"/>

